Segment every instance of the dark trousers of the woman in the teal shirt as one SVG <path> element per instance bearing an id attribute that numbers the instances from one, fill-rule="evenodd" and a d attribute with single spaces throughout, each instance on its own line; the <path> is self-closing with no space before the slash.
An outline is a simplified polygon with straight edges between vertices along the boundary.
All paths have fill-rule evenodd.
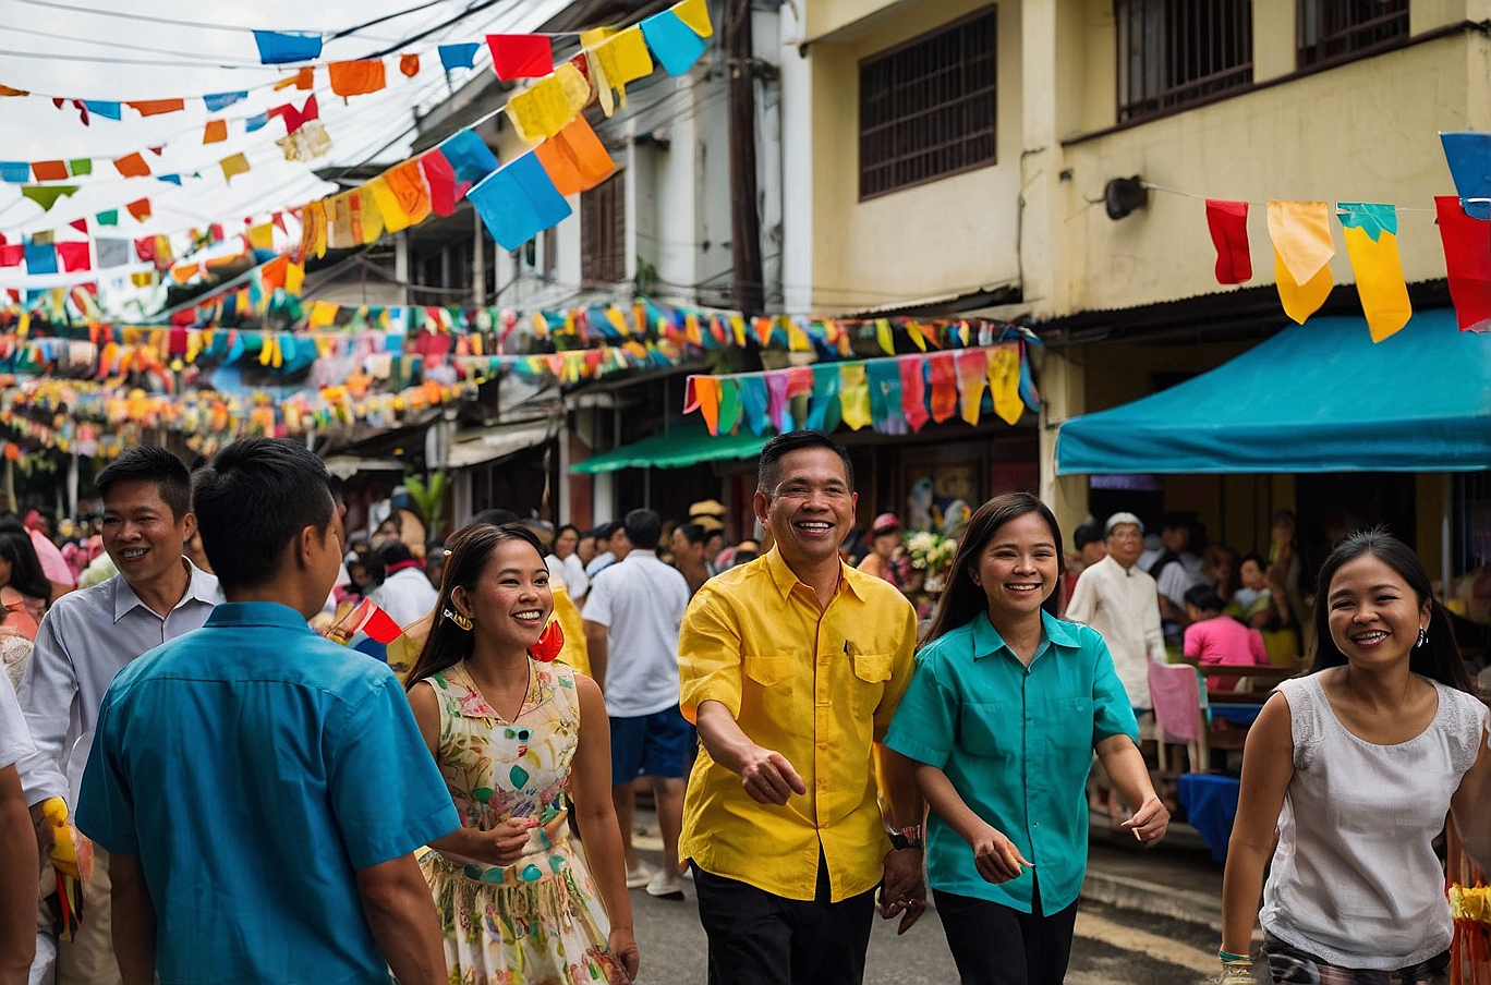
<path id="1" fill-rule="evenodd" d="M 932 896 L 963 985 L 1062 985 L 1072 957 L 1075 902 L 1042 916 L 1039 887 L 1032 913 L 942 890 Z"/>

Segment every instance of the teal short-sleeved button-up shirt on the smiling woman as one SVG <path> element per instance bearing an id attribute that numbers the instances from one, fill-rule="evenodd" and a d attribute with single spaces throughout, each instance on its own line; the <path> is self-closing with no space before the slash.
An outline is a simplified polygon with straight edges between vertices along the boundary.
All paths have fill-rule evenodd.
<path id="1" fill-rule="evenodd" d="M 1009 882 L 986 882 L 969 843 L 932 812 L 927 884 L 1029 913 L 1039 876 L 1050 916 L 1072 905 L 1087 869 L 1093 748 L 1115 735 L 1138 741 L 1139 729 L 1102 636 L 1045 612 L 1041 623 L 1029 668 L 984 612 L 927 644 L 886 745 L 947 773 L 974 814 L 1035 863 Z"/>

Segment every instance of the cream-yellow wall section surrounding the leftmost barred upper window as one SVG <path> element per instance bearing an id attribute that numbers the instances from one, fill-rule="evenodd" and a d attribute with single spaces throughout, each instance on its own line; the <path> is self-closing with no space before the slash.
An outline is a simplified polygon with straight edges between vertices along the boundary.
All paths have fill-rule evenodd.
<path id="1" fill-rule="evenodd" d="M 813 303 L 857 311 L 1020 280 L 1020 4 L 997 4 L 996 162 L 859 200 L 859 63 L 981 10 L 981 0 L 810 3 L 810 31 L 860 18 L 810 46 Z M 810 33 L 810 37 L 814 37 Z"/>

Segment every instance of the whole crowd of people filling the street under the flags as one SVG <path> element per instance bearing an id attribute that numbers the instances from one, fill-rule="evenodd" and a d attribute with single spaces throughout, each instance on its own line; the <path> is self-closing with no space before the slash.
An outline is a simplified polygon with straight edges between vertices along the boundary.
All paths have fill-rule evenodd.
<path id="1" fill-rule="evenodd" d="M 1197 554 L 1178 519 L 1147 547 L 1127 513 L 1068 554 L 1027 493 L 859 538 L 813 431 L 763 449 L 765 536 L 729 547 L 713 501 L 349 536 L 325 466 L 267 438 L 195 474 L 134 447 L 95 486 L 92 587 L 0 519 L 0 982 L 622 984 L 629 890 L 692 881 L 711 984 L 860 982 L 874 915 L 905 933 L 930 890 L 965 984 L 1054 985 L 1093 761 L 1126 837 L 1169 826 L 1148 666 L 1258 663 L 1302 621 L 1314 665 L 1243 754 L 1223 981 L 1254 981 L 1260 919 L 1267 981 L 1442 985 L 1433 839 L 1452 815 L 1491 855 L 1487 709 L 1382 532 L 1309 609 L 1282 514 L 1267 557 Z M 334 642 L 365 599 L 403 632 L 386 662 Z"/>

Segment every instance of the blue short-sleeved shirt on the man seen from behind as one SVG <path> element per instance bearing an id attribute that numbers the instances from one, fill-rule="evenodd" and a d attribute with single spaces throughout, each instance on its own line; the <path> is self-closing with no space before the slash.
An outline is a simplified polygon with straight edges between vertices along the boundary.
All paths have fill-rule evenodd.
<path id="1" fill-rule="evenodd" d="M 283 605 L 219 605 L 98 712 L 78 826 L 139 855 L 177 982 L 388 982 L 356 870 L 461 826 L 386 665 Z"/>

